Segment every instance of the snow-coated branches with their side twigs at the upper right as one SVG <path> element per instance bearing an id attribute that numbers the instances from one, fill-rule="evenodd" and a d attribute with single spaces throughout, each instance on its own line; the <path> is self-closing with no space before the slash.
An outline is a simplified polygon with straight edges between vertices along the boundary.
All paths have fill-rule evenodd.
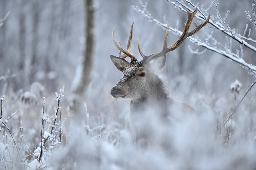
<path id="1" fill-rule="evenodd" d="M 165 0 L 165 1 L 167 3 L 174 5 L 175 8 L 178 8 L 179 10 L 184 12 L 186 12 L 186 10 L 190 12 L 194 11 L 189 6 L 192 6 L 193 8 L 198 8 L 199 6 L 199 3 L 195 5 L 191 2 L 191 0 Z M 207 35 L 205 40 L 201 40 L 197 35 L 193 35 L 191 37 L 188 37 L 187 39 L 190 40 L 190 42 L 194 43 L 195 45 L 204 47 L 207 50 L 214 51 L 215 53 L 218 53 L 220 55 L 225 56 L 228 59 L 231 59 L 232 61 L 235 61 L 236 63 L 240 64 L 242 67 L 248 69 L 251 75 L 256 76 L 256 66 L 246 63 L 243 59 L 242 46 L 246 46 L 250 50 L 256 52 L 256 47 L 246 42 L 246 41 L 250 41 L 250 42 L 256 43 L 256 40 L 253 40 L 252 38 L 250 38 L 250 30 L 248 33 L 248 37 L 245 37 L 245 32 L 248 29 L 247 27 L 246 27 L 246 30 L 243 32 L 244 35 L 238 34 L 237 29 L 230 28 L 228 24 L 225 22 L 229 12 L 227 11 L 225 16 L 222 18 L 218 11 L 218 4 L 215 2 L 215 0 L 210 0 L 210 1 L 211 1 L 211 4 L 206 9 L 204 9 L 203 5 L 201 5 L 201 8 L 198 8 L 198 13 L 195 15 L 195 18 L 199 19 L 199 21 L 204 21 L 209 15 L 208 10 L 211 8 L 212 5 L 214 5 L 217 11 L 217 15 L 215 17 L 211 17 L 211 19 L 209 20 L 209 24 L 207 25 L 208 27 L 214 28 L 214 30 L 219 30 L 226 35 L 225 44 L 218 42 L 214 37 L 212 37 L 212 32 L 209 34 L 206 31 L 204 31 Z M 187 5 L 185 2 L 187 3 Z M 149 11 L 147 11 L 147 8 L 146 8 L 147 3 L 143 3 L 141 0 L 139 0 L 139 3 L 141 7 L 133 6 L 133 9 L 135 11 L 141 13 L 145 18 L 149 19 L 149 22 L 154 22 L 158 26 L 161 26 L 163 29 L 167 27 L 167 24 L 165 24 L 164 22 L 158 21 L 149 13 Z M 178 30 L 177 26 L 176 27 L 169 26 L 169 31 L 179 36 L 182 34 L 182 31 Z M 240 49 L 236 49 L 235 53 L 232 52 L 232 40 L 236 40 L 238 43 L 241 44 Z M 196 54 L 202 53 L 202 52 L 199 52 L 198 50 L 193 51 L 191 50 L 191 48 L 190 48 L 190 51 Z"/>

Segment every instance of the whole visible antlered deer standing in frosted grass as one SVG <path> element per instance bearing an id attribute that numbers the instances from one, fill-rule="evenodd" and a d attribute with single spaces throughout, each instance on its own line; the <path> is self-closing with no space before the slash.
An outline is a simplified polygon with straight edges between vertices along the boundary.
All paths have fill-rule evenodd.
<path id="1" fill-rule="evenodd" d="M 121 47 L 120 43 L 117 43 L 114 37 L 114 30 L 112 31 L 113 42 L 115 46 L 120 50 L 121 53 L 119 57 L 110 55 L 112 62 L 115 64 L 118 70 L 123 72 L 123 77 L 118 81 L 118 83 L 112 88 L 110 94 L 115 99 L 129 99 L 131 100 L 131 113 L 140 112 L 148 108 L 148 106 L 153 106 L 154 108 L 159 108 L 162 114 L 167 114 L 168 108 L 173 105 L 180 105 L 182 110 L 189 111 L 193 110 L 192 107 L 177 103 L 173 99 L 168 97 L 168 93 L 165 90 L 162 80 L 157 76 L 157 72 L 162 69 L 165 65 L 165 55 L 166 53 L 175 50 L 179 45 L 191 35 L 196 34 L 198 30 L 204 27 L 210 19 L 210 15 L 199 26 L 189 32 L 191 22 L 197 12 L 197 8 L 193 13 L 187 11 L 188 19 L 186 24 L 183 24 L 183 33 L 177 42 L 171 46 L 167 46 L 167 38 L 169 26 L 166 28 L 164 47 L 161 51 L 146 56 L 141 51 L 139 41 L 138 49 L 140 55 L 143 57 L 142 61 L 138 61 L 134 54 L 131 52 L 131 39 L 133 36 L 133 24 L 131 25 L 130 37 L 128 40 L 127 50 Z M 131 62 L 125 60 L 126 57 L 131 58 Z M 150 63 L 150 61 L 152 61 Z"/>

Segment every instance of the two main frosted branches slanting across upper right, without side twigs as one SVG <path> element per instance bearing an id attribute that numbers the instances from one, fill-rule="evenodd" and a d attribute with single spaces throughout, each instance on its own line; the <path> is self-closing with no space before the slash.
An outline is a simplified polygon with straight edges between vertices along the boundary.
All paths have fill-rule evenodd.
<path id="1" fill-rule="evenodd" d="M 174 1 L 170 1 L 170 0 L 166 0 L 166 1 L 171 3 L 172 5 L 175 5 L 181 11 L 184 11 L 184 12 L 186 12 L 186 10 L 193 11 L 188 6 L 186 6 L 185 3 L 181 3 L 178 0 L 175 0 L 176 3 Z M 184 0 L 184 1 L 189 3 L 192 6 L 197 7 L 196 5 L 191 3 L 190 0 Z M 213 0 L 211 0 L 211 1 L 213 1 Z M 140 1 L 140 4 L 142 6 L 142 9 L 140 9 L 138 6 L 133 6 L 133 9 L 135 11 L 141 13 L 144 17 L 150 19 L 152 22 L 156 23 L 157 25 L 159 25 L 163 28 L 166 28 L 165 23 L 158 21 L 157 19 L 152 17 L 152 15 L 149 13 L 149 11 L 147 11 L 146 3 L 143 3 L 143 2 Z M 195 17 L 198 18 L 201 21 L 204 21 L 207 18 L 207 16 L 206 16 L 207 13 L 203 10 L 200 10 L 200 9 L 198 9 L 198 11 L 199 11 L 199 14 L 196 14 Z M 235 40 L 237 40 L 238 43 L 241 43 L 241 45 L 245 45 L 246 47 L 248 47 L 251 50 L 256 52 L 256 47 L 253 47 L 252 45 L 248 44 L 240 34 L 238 34 L 236 32 L 233 32 L 233 29 L 227 28 L 223 24 L 220 24 L 219 22 L 214 22 L 213 18 L 209 19 L 209 23 L 212 24 L 215 27 L 215 29 L 224 32 L 229 37 L 235 38 Z M 232 32 L 229 32 L 229 30 L 232 30 Z M 178 30 L 174 27 L 170 27 L 170 26 L 169 26 L 169 31 L 172 32 L 173 34 L 179 35 L 179 36 L 182 34 L 182 31 L 180 31 L 180 30 Z M 211 35 L 209 35 L 207 38 L 214 41 L 214 38 L 212 38 L 210 36 Z M 190 40 L 190 42 L 194 43 L 195 45 L 204 47 L 207 50 L 214 51 L 215 53 L 218 53 L 220 55 L 225 56 L 228 59 L 231 59 L 232 61 L 235 61 L 236 63 L 238 63 L 241 66 L 248 69 L 251 75 L 256 76 L 256 66 L 254 66 L 252 64 L 249 64 L 249 63 L 246 63 L 244 61 L 244 59 L 241 58 L 241 56 L 240 56 L 241 49 L 239 49 L 239 50 L 237 49 L 236 53 L 233 53 L 231 50 L 225 48 L 226 45 L 222 45 L 220 42 L 209 43 L 209 40 L 207 40 L 207 38 L 206 38 L 205 41 L 199 39 L 196 36 L 191 36 L 191 37 L 188 37 L 187 39 Z M 222 48 L 223 50 L 220 49 L 220 47 L 221 48 L 223 47 Z"/>

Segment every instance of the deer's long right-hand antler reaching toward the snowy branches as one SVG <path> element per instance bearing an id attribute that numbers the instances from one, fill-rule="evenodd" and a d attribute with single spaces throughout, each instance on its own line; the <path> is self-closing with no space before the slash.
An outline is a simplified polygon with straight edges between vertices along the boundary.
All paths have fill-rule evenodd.
<path id="1" fill-rule="evenodd" d="M 176 48 L 178 48 L 181 43 L 187 38 L 187 37 L 190 37 L 191 35 L 194 35 L 196 34 L 196 32 L 198 32 L 201 28 L 203 28 L 207 22 L 209 21 L 210 19 L 210 15 L 208 16 L 208 18 L 206 19 L 206 21 L 204 21 L 202 24 L 200 24 L 199 26 L 196 25 L 195 23 L 195 26 L 196 28 L 193 29 L 192 31 L 189 32 L 189 29 L 190 29 L 190 25 L 191 25 L 191 22 L 197 12 L 197 8 L 196 10 L 194 10 L 193 13 L 190 13 L 188 10 L 187 10 L 187 14 L 188 14 L 188 19 L 187 19 L 187 22 L 186 22 L 186 25 L 183 24 L 183 33 L 181 34 L 180 38 L 177 40 L 177 42 L 175 42 L 173 45 L 171 46 L 168 46 L 167 47 L 167 38 L 168 38 L 168 31 L 169 31 L 169 26 L 167 25 L 166 27 L 166 32 L 165 32 L 165 39 L 164 39 L 164 47 L 161 51 L 159 51 L 158 53 L 154 53 L 154 54 L 151 54 L 149 56 L 146 56 L 142 53 L 141 51 L 141 47 L 139 45 L 139 40 L 137 39 L 137 43 L 138 43 L 138 48 L 139 48 L 139 53 L 141 54 L 141 56 L 143 57 L 143 60 L 147 61 L 147 62 L 150 62 L 152 59 L 155 59 L 159 56 L 163 56 L 165 55 L 166 53 L 170 52 L 170 51 L 173 51 L 175 50 Z"/>

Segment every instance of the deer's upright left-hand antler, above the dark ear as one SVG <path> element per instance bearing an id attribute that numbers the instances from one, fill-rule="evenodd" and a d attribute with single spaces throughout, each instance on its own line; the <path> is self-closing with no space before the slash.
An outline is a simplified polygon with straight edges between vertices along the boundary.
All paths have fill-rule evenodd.
<path id="1" fill-rule="evenodd" d="M 123 49 L 120 42 L 118 44 L 117 41 L 115 40 L 114 29 L 112 30 L 112 37 L 113 37 L 113 42 L 114 42 L 115 46 L 118 48 L 118 50 L 120 50 L 124 53 L 121 56 L 122 58 L 130 57 L 131 60 L 136 60 L 134 54 L 131 52 L 131 39 L 133 38 L 133 24 L 131 24 L 131 30 L 130 30 L 130 36 L 128 39 L 127 50 Z"/>

